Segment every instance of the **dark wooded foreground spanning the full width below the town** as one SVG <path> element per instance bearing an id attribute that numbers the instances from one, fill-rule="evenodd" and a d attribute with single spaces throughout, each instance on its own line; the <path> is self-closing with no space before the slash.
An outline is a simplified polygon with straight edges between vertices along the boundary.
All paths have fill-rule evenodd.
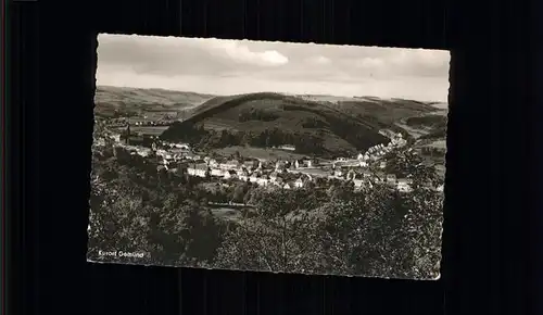
<path id="1" fill-rule="evenodd" d="M 434 278 L 441 260 L 443 194 L 411 151 L 389 167 L 412 175 L 414 191 L 387 185 L 328 188 L 229 188 L 156 172 L 138 155 L 96 154 L 89 257 L 98 251 L 144 252 L 123 262 L 306 274 Z M 207 201 L 254 207 L 237 219 L 214 215 Z M 111 257 L 110 257 L 111 260 Z M 116 257 L 116 261 L 121 259 Z M 132 260 L 132 261 L 130 261 Z M 137 261 L 136 261 L 137 260 Z"/>

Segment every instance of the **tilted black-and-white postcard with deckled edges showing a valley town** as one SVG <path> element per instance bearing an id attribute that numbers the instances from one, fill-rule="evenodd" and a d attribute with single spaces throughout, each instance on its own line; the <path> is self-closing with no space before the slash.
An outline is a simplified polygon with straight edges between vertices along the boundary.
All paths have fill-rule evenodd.
<path id="1" fill-rule="evenodd" d="M 439 279 L 450 59 L 100 34 L 88 261 Z"/>

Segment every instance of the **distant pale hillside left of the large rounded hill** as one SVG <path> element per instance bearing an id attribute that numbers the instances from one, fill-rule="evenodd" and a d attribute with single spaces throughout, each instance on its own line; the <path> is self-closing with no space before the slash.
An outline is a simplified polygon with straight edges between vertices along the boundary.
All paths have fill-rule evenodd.
<path id="1" fill-rule="evenodd" d="M 143 112 L 178 114 L 214 98 L 195 92 L 98 86 L 94 112 L 102 116 L 141 115 Z"/>

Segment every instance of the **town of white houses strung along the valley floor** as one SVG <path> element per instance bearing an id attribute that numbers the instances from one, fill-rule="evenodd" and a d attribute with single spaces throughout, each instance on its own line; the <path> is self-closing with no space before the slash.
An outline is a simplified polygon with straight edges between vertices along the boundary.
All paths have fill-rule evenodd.
<path id="1" fill-rule="evenodd" d="M 108 128 L 109 127 L 109 128 Z M 413 179 L 387 173 L 387 153 L 405 149 L 407 140 L 402 134 L 389 134 L 390 142 L 369 148 L 357 156 L 338 156 L 333 160 L 317 158 L 302 159 L 255 159 L 252 156 L 218 156 L 213 152 L 195 152 L 189 143 L 172 143 L 159 139 L 157 135 L 136 133 L 130 124 L 119 127 L 117 121 L 110 122 L 108 138 L 115 148 L 123 148 L 130 154 L 138 154 L 156 164 L 157 172 L 187 174 L 227 182 L 245 181 L 260 187 L 299 189 L 321 187 L 327 181 L 352 182 L 354 190 L 386 184 L 400 192 L 412 191 Z M 114 129 L 114 128 L 116 129 Z M 111 128 L 111 129 L 110 129 Z M 113 131 L 114 130 L 114 131 Z M 96 140 L 96 146 L 104 144 L 104 139 Z M 290 144 L 274 148 L 294 152 Z M 405 178 L 406 177 L 406 178 Z M 443 190 L 443 185 L 434 188 Z"/>

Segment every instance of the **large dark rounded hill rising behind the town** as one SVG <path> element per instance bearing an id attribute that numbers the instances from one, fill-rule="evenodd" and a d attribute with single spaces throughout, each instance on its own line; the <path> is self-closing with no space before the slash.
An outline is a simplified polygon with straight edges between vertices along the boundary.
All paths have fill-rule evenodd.
<path id="1" fill-rule="evenodd" d="M 361 102 L 353 104 L 365 113 Z M 389 141 L 379 130 L 394 126 L 380 121 L 382 111 L 368 109 L 364 116 L 353 115 L 345 108 L 273 92 L 216 97 L 195 108 L 185 122 L 171 126 L 162 137 L 212 146 L 293 144 L 300 153 L 320 155 L 352 154 Z"/>

